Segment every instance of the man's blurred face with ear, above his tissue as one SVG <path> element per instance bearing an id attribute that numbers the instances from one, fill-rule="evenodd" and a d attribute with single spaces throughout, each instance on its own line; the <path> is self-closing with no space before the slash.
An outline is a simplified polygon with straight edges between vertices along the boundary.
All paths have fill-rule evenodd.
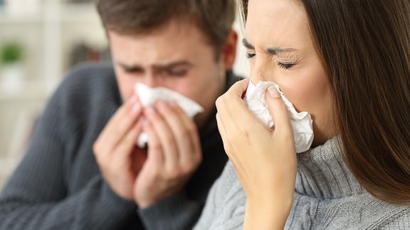
<path id="1" fill-rule="evenodd" d="M 109 31 L 108 37 L 123 100 L 134 94 L 137 82 L 167 87 L 204 107 L 205 112 L 195 118 L 197 124 L 207 119 L 224 87 L 225 65 L 198 28 L 173 22 L 152 33 Z"/>

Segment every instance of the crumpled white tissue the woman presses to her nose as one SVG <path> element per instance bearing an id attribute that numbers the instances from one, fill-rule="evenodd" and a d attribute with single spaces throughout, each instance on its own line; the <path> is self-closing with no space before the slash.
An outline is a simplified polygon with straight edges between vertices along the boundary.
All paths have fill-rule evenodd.
<path id="1" fill-rule="evenodd" d="M 273 128 L 272 116 L 270 116 L 268 105 L 266 104 L 266 90 L 270 87 L 278 89 L 280 96 L 288 107 L 290 114 L 290 124 L 293 128 L 293 136 L 295 138 L 296 153 L 305 152 L 312 145 L 313 128 L 312 119 L 308 112 L 303 111 L 298 113 L 295 107 L 280 91 L 278 84 L 275 82 L 258 82 L 253 84 L 249 81 L 248 89 L 244 101 L 253 114 L 268 128 Z"/>

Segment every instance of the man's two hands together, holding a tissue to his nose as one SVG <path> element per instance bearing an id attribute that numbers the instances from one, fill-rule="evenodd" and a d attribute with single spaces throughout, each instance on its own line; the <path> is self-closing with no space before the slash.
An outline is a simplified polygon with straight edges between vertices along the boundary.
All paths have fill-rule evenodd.
<path id="1" fill-rule="evenodd" d="M 142 109 L 132 97 L 112 116 L 93 146 L 103 177 L 140 208 L 182 190 L 202 160 L 194 121 L 179 106 L 157 102 Z M 144 130 L 148 150 L 136 146 Z"/>

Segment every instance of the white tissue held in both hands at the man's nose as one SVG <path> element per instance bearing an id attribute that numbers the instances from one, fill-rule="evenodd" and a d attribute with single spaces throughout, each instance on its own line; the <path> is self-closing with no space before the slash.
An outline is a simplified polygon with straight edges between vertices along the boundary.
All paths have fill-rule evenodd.
<path id="1" fill-rule="evenodd" d="M 199 105 L 198 103 L 194 102 L 193 100 L 185 97 L 179 92 L 175 92 L 171 89 L 167 89 L 165 87 L 155 87 L 151 88 L 146 84 L 137 83 L 135 84 L 134 88 L 135 94 L 137 94 L 138 98 L 143 107 L 152 106 L 158 100 L 162 100 L 164 102 L 175 102 L 181 109 L 186 113 L 189 118 L 193 118 L 196 114 L 204 111 L 204 108 Z M 137 145 L 140 148 L 143 148 L 148 141 L 147 133 L 142 132 L 138 137 Z"/>

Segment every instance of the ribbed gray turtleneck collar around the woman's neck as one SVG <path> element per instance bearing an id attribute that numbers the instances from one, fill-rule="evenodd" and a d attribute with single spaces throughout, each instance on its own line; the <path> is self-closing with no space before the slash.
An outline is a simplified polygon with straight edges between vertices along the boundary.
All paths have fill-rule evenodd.
<path id="1" fill-rule="evenodd" d="M 295 192 L 317 199 L 362 193 L 362 186 L 343 160 L 341 147 L 340 139 L 335 137 L 322 146 L 299 153 Z"/>

